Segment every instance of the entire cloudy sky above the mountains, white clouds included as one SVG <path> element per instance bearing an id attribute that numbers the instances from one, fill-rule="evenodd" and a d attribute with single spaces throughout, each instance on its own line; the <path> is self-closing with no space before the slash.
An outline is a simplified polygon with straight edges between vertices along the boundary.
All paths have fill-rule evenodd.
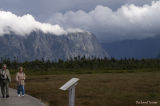
<path id="1" fill-rule="evenodd" d="M 160 33 L 159 13 L 159 0 L 0 0 L 0 34 L 83 29 L 100 42 L 144 39 Z"/>

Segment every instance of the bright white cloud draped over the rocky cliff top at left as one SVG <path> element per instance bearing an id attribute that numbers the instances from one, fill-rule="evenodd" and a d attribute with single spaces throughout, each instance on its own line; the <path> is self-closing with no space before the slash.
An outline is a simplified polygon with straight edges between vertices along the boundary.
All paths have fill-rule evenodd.
<path id="1" fill-rule="evenodd" d="M 64 30 L 59 25 L 51 25 L 49 23 L 41 23 L 34 19 L 30 14 L 17 16 L 11 12 L 0 11 L 0 35 L 14 32 L 18 35 L 27 35 L 32 31 L 41 30 L 44 33 L 52 33 L 55 35 L 67 34 L 68 32 L 81 32 L 80 29 Z"/>

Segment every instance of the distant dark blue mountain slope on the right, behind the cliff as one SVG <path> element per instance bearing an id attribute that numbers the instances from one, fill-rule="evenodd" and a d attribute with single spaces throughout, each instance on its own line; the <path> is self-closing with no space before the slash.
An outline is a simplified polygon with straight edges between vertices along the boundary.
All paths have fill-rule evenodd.
<path id="1" fill-rule="evenodd" d="M 160 53 L 160 37 L 142 40 L 124 40 L 101 43 L 102 47 L 115 58 L 156 58 Z"/>

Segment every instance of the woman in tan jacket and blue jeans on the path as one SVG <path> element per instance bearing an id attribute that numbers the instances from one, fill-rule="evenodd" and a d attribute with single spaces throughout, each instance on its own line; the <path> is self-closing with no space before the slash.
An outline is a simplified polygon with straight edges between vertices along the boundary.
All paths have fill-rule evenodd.
<path id="1" fill-rule="evenodd" d="M 16 74 L 16 81 L 18 83 L 17 93 L 20 96 L 20 92 L 22 91 L 22 96 L 25 94 L 25 73 L 23 72 L 23 67 L 19 67 L 19 72 Z"/>

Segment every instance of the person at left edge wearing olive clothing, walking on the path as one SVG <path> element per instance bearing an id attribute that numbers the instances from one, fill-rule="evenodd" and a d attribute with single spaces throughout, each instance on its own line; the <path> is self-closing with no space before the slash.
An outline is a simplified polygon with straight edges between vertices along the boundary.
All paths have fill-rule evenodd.
<path id="1" fill-rule="evenodd" d="M 2 97 L 9 98 L 9 83 L 11 82 L 11 76 L 6 64 L 3 64 L 3 67 L 0 70 L 0 80 Z"/>

